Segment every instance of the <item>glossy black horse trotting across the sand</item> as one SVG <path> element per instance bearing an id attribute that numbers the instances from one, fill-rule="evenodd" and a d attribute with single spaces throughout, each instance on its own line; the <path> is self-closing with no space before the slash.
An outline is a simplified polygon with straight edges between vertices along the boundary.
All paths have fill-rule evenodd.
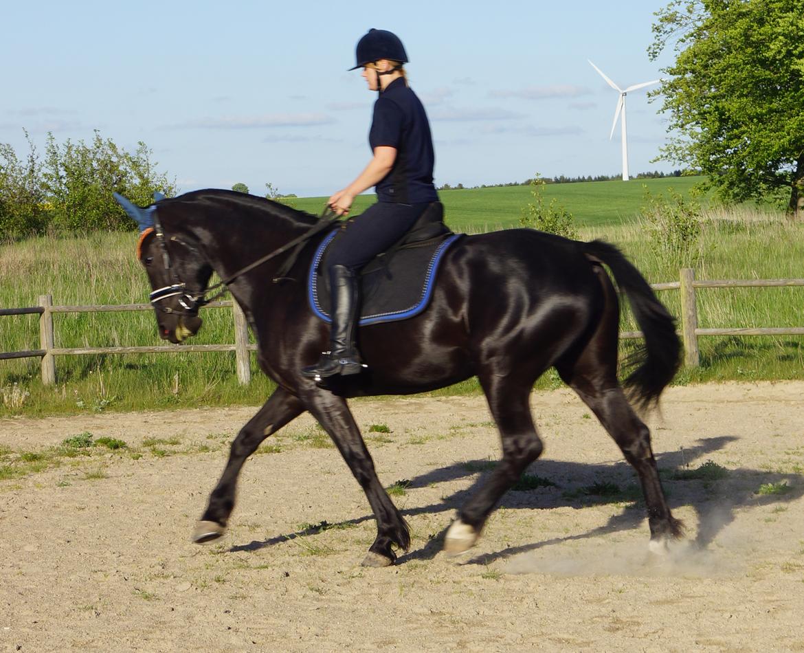
<path id="1" fill-rule="evenodd" d="M 446 532 L 445 550 L 464 552 L 503 494 L 542 452 L 528 396 L 551 367 L 634 466 L 645 495 L 650 548 L 664 548 L 681 536 L 683 526 L 671 515 L 659 482 L 650 431 L 629 402 L 658 400 L 678 368 L 679 339 L 650 285 L 613 245 L 530 229 L 464 236 L 441 261 L 429 307 L 407 320 L 360 327 L 358 345 L 367 368 L 334 377 L 322 388 L 301 376 L 301 368 L 318 360 L 328 343 L 329 327 L 310 309 L 303 282 L 324 232 L 300 245 L 293 265 L 283 270 L 291 281 L 272 283 L 292 261 L 289 245 L 315 228 L 315 216 L 231 191 L 195 191 L 136 212 L 157 218 L 155 230 L 143 232 L 138 256 L 154 288 L 162 338 L 179 343 L 199 330 L 198 309 L 214 270 L 243 307 L 260 368 L 277 382 L 232 442 L 195 529 L 196 542 L 224 534 L 246 458 L 307 410 L 329 433 L 374 512 L 377 537 L 363 565 L 392 564 L 394 548 L 409 547 L 408 526 L 379 483 L 346 400 L 425 392 L 477 376 L 502 438 L 503 458 Z M 628 398 L 617 380 L 620 308 L 603 264 L 629 298 L 645 336 L 644 347 L 631 357 Z"/>

